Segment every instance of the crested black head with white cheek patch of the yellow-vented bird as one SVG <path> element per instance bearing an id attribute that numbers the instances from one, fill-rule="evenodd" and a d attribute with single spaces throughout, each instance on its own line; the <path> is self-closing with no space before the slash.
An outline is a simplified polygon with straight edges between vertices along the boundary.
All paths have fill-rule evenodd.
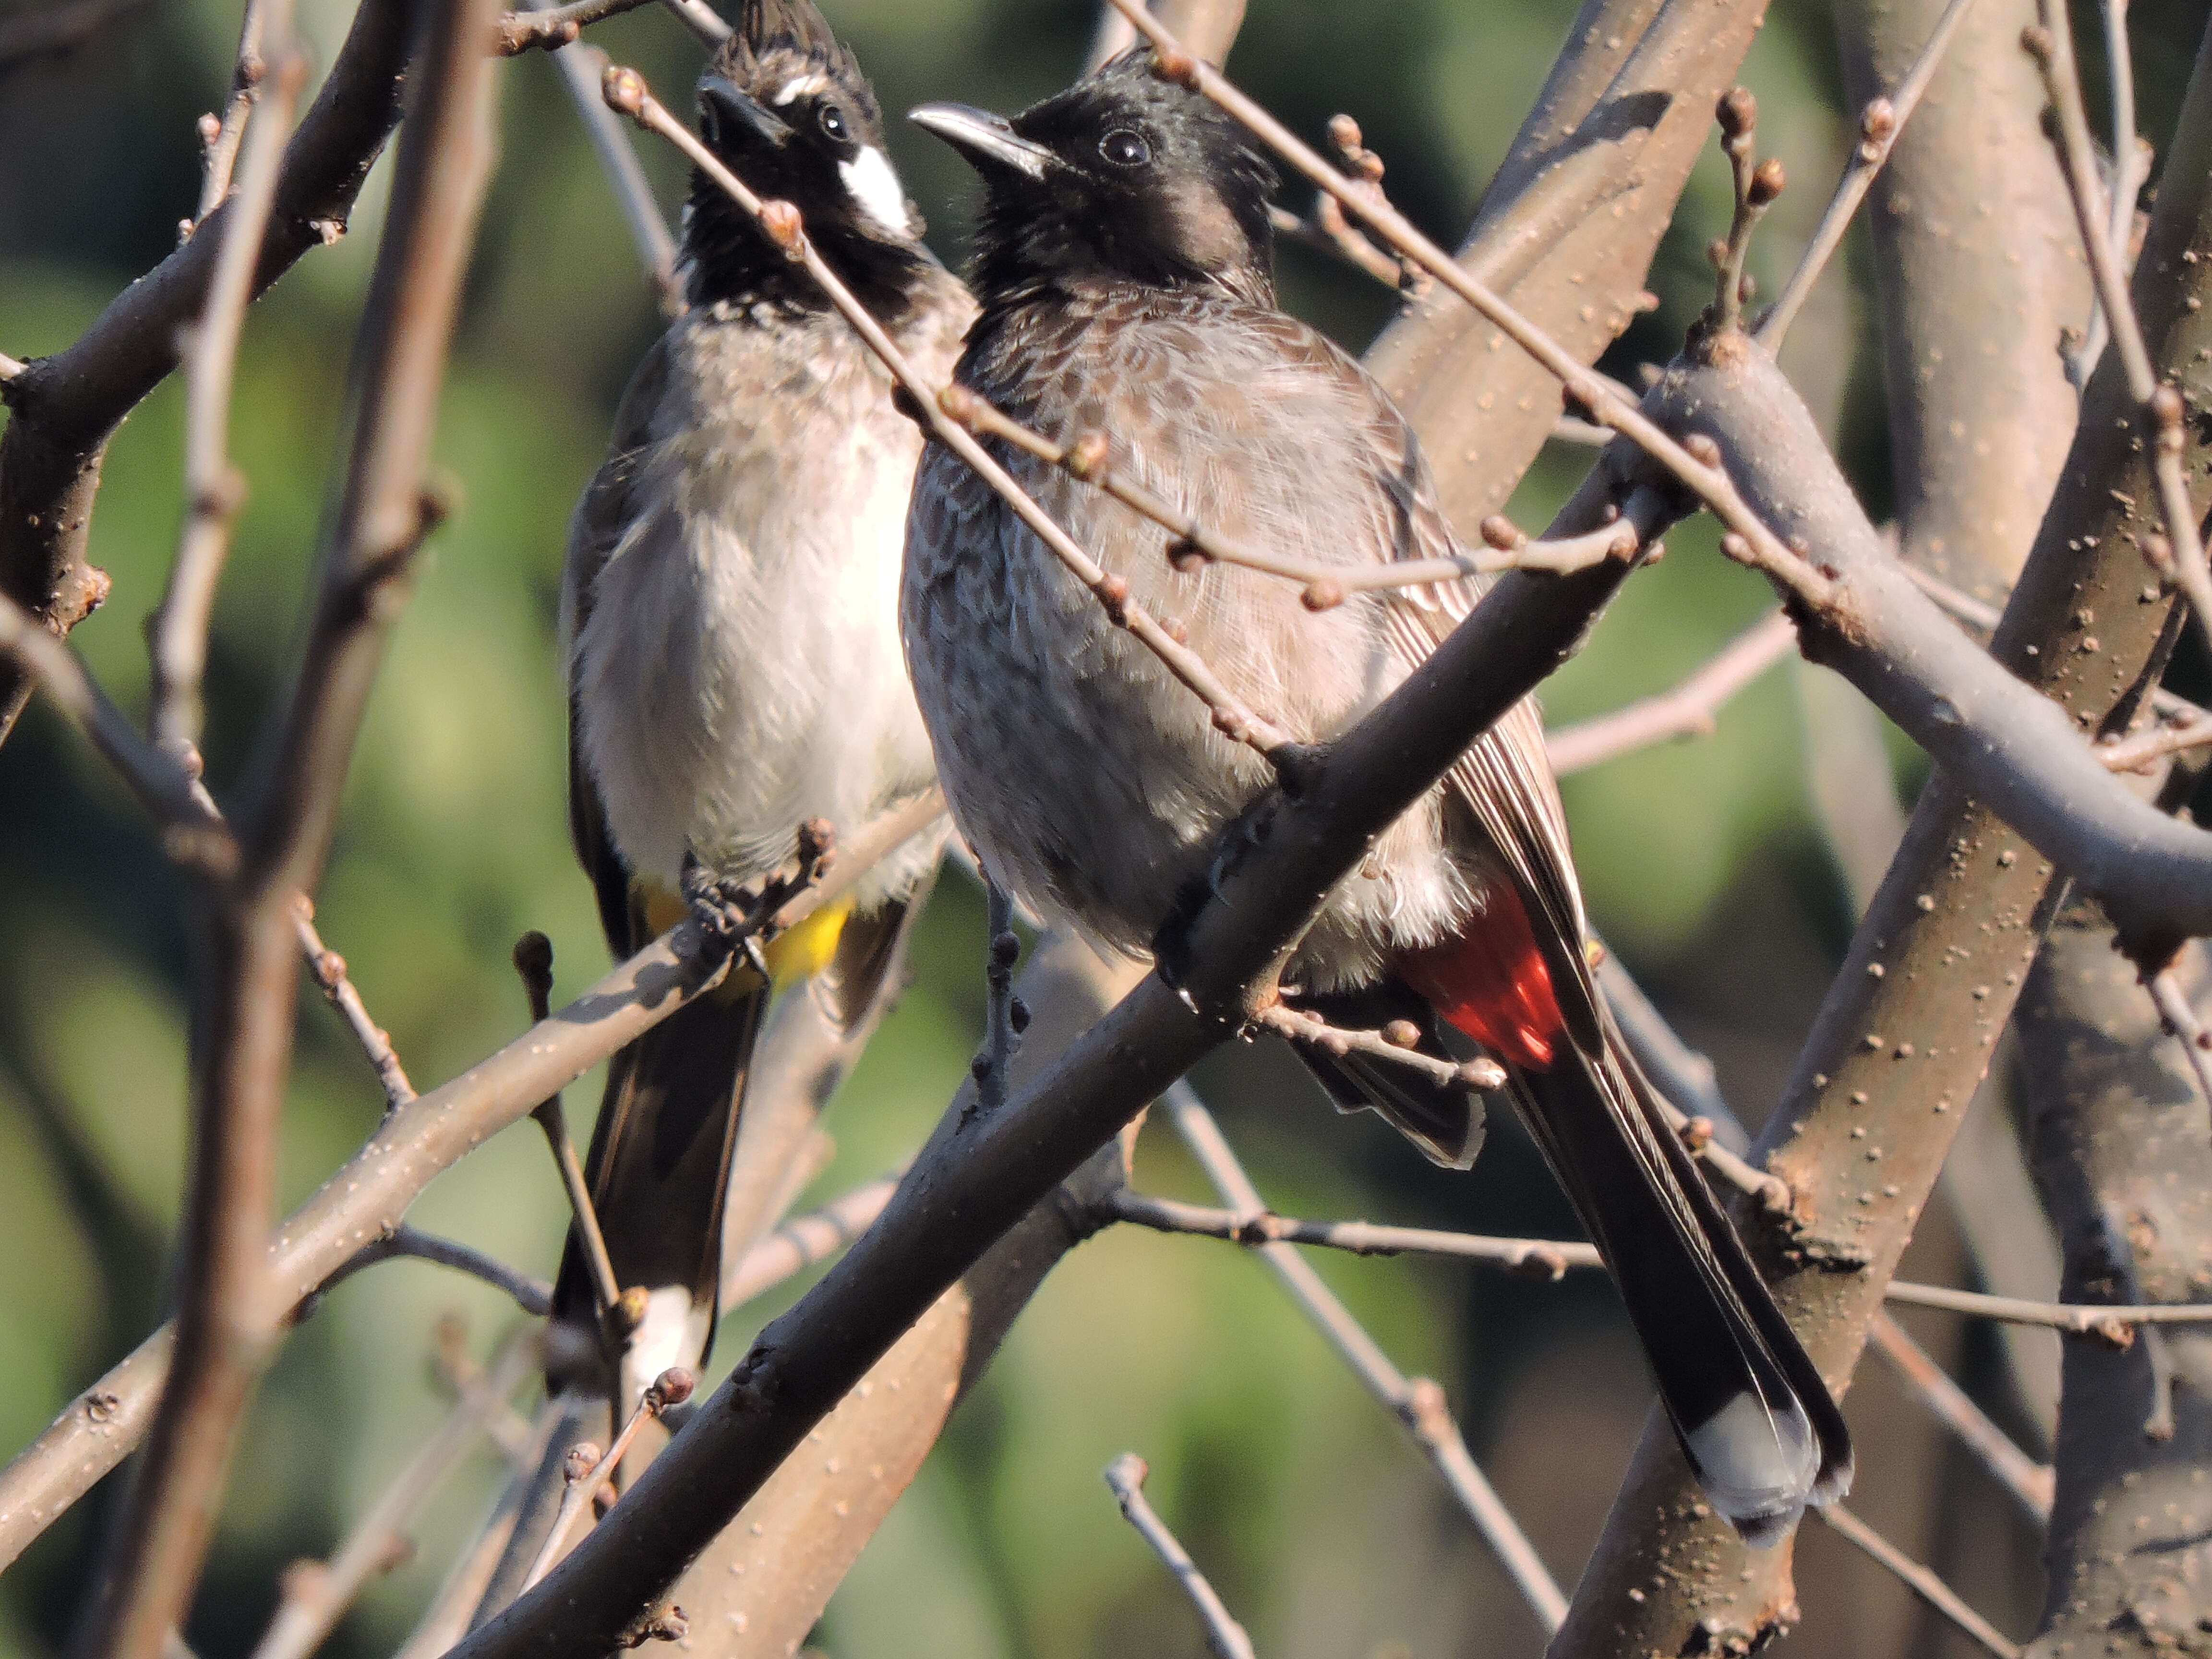
<path id="1" fill-rule="evenodd" d="M 812 0 L 745 0 L 699 80 L 699 135 L 759 195 L 799 208 L 814 246 L 872 310 L 900 310 L 927 261 L 922 219 L 883 144 L 876 88 Z M 695 305 L 763 292 L 825 303 L 701 173 L 684 254 Z"/>

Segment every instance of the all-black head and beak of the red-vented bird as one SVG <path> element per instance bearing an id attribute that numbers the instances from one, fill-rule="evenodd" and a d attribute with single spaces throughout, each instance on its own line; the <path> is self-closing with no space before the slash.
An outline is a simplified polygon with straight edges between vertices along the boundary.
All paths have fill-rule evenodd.
<path id="1" fill-rule="evenodd" d="M 1152 73 L 1150 49 L 1011 122 L 962 104 L 914 119 L 982 175 L 978 296 L 1128 281 L 1274 294 L 1274 168 L 1230 115 Z"/>

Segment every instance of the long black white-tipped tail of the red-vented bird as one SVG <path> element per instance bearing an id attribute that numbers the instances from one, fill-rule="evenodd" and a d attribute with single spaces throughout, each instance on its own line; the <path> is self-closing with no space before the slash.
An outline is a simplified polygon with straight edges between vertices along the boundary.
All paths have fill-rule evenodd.
<path id="1" fill-rule="evenodd" d="M 1851 1484 L 1851 1438 L 1743 1243 L 1624 1057 L 1575 1044 L 1513 1071 L 1517 1104 L 1590 1230 L 1699 1484 L 1767 1544 Z"/>

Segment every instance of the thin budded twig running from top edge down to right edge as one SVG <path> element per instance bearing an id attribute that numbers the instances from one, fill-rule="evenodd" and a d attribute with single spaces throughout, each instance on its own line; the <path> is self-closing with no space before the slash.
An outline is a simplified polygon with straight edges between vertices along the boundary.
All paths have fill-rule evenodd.
<path id="1" fill-rule="evenodd" d="M 2106 221 L 2112 210 L 2106 208 L 2104 186 L 2097 179 L 2097 150 L 2088 133 L 2088 113 L 2081 106 L 2081 77 L 2075 69 L 2073 24 L 2064 7 L 2053 4 L 2053 0 L 2035 0 L 2035 15 L 2042 22 L 2028 24 L 2020 42 L 2042 69 L 2044 91 L 2057 113 L 2059 161 L 2075 206 L 2075 226 L 2088 252 L 2097 303 L 2110 323 L 2112 345 L 2128 376 L 2128 396 L 2141 405 L 2143 438 L 2152 456 L 2150 476 L 2159 484 L 2159 515 L 2166 522 L 2168 544 L 2166 549 L 2146 546 L 2143 553 L 2154 564 L 2163 553 L 2174 584 L 2190 599 L 2199 630 L 2212 644 L 2212 571 L 2205 566 L 2197 507 L 2190 500 L 2190 482 L 2181 465 L 2181 422 L 2188 405 L 2181 392 L 2159 383 L 2157 369 L 2150 367 L 2150 347 L 2143 343 L 2143 325 L 2135 314 L 2128 274 L 2121 268 L 2124 243 L 2108 234 Z M 2115 157 L 2112 164 L 2119 175 L 2126 175 L 2126 155 Z"/>

